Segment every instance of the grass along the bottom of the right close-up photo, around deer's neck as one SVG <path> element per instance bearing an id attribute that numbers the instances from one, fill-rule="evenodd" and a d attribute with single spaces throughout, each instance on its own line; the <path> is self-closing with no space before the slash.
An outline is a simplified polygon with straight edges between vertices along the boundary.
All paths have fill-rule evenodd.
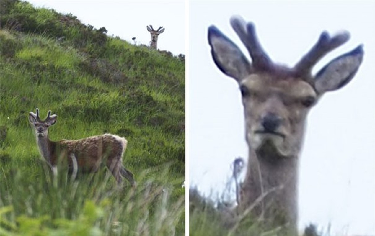
<path id="1" fill-rule="evenodd" d="M 227 190 L 226 190 L 227 191 Z M 189 190 L 189 234 L 191 236 L 291 236 L 295 235 L 280 226 L 273 226 L 252 211 L 244 214 L 225 200 L 202 197 L 196 188 Z M 230 202 L 229 202 L 230 205 Z M 303 236 L 330 236 L 330 226 L 323 228 L 310 223 Z M 347 235 L 342 232 L 341 235 Z"/>

